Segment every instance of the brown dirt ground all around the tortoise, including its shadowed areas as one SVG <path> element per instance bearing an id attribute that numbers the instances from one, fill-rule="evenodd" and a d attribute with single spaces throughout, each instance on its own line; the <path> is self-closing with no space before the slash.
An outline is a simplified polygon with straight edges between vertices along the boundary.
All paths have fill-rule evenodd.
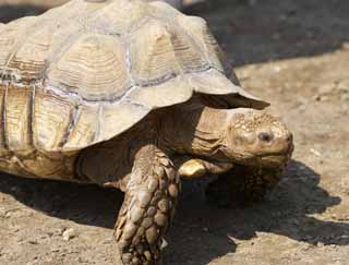
<path id="1" fill-rule="evenodd" d="M 243 86 L 293 131 L 296 152 L 253 207 L 209 205 L 204 182 L 185 182 L 165 264 L 349 264 L 349 1 L 213 0 L 186 12 L 208 20 Z M 121 201 L 96 186 L 1 174 L 0 264 L 120 264 Z"/>

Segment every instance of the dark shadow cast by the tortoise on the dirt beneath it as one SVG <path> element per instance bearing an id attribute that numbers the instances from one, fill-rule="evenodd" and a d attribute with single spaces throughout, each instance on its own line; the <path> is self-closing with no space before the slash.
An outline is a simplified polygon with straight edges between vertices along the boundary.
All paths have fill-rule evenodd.
<path id="1" fill-rule="evenodd" d="M 249 208 L 218 208 L 205 202 L 203 182 L 184 182 L 183 194 L 168 234 L 168 264 L 207 264 L 233 252 L 237 248 L 228 238 L 249 240 L 256 232 L 282 234 L 311 244 L 349 244 L 349 224 L 323 221 L 309 215 L 338 205 L 318 186 L 320 176 L 299 161 L 288 167 L 279 186 L 266 202 Z M 37 181 L 1 176 L 0 192 L 21 203 L 61 219 L 79 224 L 112 228 L 122 194 L 91 185 L 55 181 Z M 196 256 L 195 253 L 201 253 Z"/>

